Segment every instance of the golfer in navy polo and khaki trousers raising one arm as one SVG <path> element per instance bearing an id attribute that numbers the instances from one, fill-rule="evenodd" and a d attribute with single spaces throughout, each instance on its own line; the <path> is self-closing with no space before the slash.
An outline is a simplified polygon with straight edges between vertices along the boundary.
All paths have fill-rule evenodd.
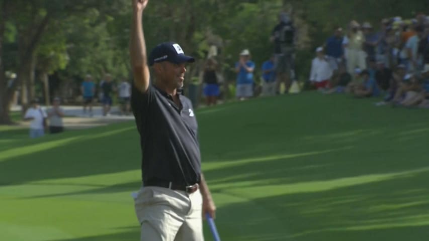
<path id="1" fill-rule="evenodd" d="M 194 62 L 177 43 L 161 43 L 146 56 L 142 16 L 148 0 L 132 0 L 131 106 L 142 151 L 143 185 L 135 211 L 144 241 L 204 240 L 202 217 L 215 205 L 201 173 L 197 120 L 178 93 L 185 64 Z M 148 65 L 151 66 L 151 81 Z"/>

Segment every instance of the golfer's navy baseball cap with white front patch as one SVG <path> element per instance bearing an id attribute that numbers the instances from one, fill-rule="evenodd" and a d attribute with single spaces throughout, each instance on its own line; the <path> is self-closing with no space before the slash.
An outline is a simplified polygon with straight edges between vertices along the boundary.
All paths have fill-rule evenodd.
<path id="1" fill-rule="evenodd" d="M 179 44 L 174 42 L 166 42 L 158 44 L 152 49 L 149 55 L 149 66 L 154 63 L 168 61 L 175 64 L 193 63 L 195 59 L 185 55 Z"/>

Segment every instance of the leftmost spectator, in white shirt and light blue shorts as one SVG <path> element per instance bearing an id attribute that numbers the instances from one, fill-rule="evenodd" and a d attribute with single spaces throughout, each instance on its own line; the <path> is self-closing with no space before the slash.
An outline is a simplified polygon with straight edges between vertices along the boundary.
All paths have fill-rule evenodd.
<path id="1" fill-rule="evenodd" d="M 30 122 L 30 138 L 39 138 L 45 135 L 44 119 L 46 112 L 39 106 L 37 99 L 31 101 L 32 106 L 25 112 L 24 121 Z"/>

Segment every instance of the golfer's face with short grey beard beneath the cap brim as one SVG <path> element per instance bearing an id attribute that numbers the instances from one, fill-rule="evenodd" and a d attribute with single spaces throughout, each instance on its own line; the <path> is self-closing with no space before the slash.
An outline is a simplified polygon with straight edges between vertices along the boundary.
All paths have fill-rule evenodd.
<path id="1" fill-rule="evenodd" d="M 161 62 L 160 66 L 157 68 L 157 72 L 168 87 L 183 87 L 186 73 L 185 63 L 175 64 L 168 61 Z"/>

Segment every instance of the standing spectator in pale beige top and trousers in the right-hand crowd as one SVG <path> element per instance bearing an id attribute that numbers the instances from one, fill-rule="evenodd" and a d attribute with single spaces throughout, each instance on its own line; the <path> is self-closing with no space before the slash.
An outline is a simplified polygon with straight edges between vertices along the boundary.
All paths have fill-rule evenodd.
<path id="1" fill-rule="evenodd" d="M 363 51 L 365 37 L 359 27 L 360 25 L 356 21 L 350 23 L 349 42 L 347 44 L 347 71 L 351 74 L 356 67 L 360 69 L 367 68 L 365 52 Z"/>

